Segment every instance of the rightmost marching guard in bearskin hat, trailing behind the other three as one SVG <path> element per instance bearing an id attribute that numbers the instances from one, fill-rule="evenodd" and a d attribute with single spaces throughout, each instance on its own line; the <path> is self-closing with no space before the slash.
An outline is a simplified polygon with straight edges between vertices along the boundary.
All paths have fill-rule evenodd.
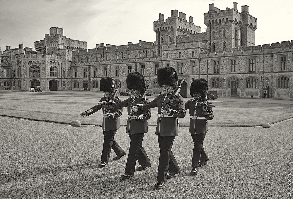
<path id="1" fill-rule="evenodd" d="M 212 107 L 206 99 L 208 84 L 203 78 L 195 79 L 190 85 L 190 96 L 193 99 L 185 103 L 185 109 L 189 110 L 189 132 L 191 134 L 194 147 L 192 156 L 192 170 L 190 174 L 196 175 L 198 167 L 207 164 L 209 157 L 203 148 L 203 141 L 208 131 L 207 120 L 214 118 Z"/>

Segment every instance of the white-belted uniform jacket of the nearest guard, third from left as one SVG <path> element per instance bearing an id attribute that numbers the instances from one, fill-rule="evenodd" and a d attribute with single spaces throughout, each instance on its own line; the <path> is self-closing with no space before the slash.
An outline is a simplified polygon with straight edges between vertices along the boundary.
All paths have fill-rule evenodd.
<path id="1" fill-rule="evenodd" d="M 137 104 L 138 110 L 147 110 L 149 108 L 158 107 L 158 114 L 162 113 L 162 105 L 165 105 L 167 102 L 170 102 L 170 97 L 173 92 L 169 94 L 160 94 L 153 101 Z M 179 133 L 179 120 L 178 117 L 185 117 L 185 106 L 183 97 L 178 95 L 180 101 L 173 101 L 171 106 L 171 114 L 169 116 L 172 117 L 158 117 L 157 127 L 156 127 L 156 135 L 160 136 L 177 136 Z M 178 98 L 178 97 L 177 97 Z"/>

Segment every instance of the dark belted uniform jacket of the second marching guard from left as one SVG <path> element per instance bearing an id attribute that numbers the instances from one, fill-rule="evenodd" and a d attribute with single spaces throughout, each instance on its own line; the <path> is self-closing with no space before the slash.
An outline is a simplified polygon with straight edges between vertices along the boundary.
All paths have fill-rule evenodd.
<path id="1" fill-rule="evenodd" d="M 144 100 L 138 101 L 140 96 L 137 96 L 136 98 L 130 97 L 124 101 L 113 101 L 113 100 L 107 100 L 110 102 L 107 105 L 113 106 L 113 107 L 126 107 L 127 106 L 127 113 L 128 115 L 137 115 L 139 118 L 137 120 L 132 120 L 128 117 L 127 119 L 127 126 L 126 126 L 126 133 L 128 134 L 138 134 L 138 133 L 146 133 L 147 132 L 147 120 L 151 117 L 151 111 L 150 110 L 140 110 L 137 113 L 133 113 L 131 108 L 132 106 L 137 105 L 137 103 L 146 103 L 149 102 L 147 98 L 144 98 Z"/>

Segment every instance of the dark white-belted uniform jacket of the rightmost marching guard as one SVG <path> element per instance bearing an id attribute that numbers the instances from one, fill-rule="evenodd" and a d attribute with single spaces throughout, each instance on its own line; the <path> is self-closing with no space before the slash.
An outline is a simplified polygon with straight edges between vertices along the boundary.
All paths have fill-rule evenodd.
<path id="1" fill-rule="evenodd" d="M 185 109 L 189 110 L 190 116 L 205 117 L 205 119 L 189 119 L 189 132 L 191 134 L 206 133 L 209 127 L 207 120 L 214 118 L 213 110 L 210 107 L 207 107 L 209 115 L 202 115 L 202 103 L 202 100 L 194 99 L 185 102 Z"/>

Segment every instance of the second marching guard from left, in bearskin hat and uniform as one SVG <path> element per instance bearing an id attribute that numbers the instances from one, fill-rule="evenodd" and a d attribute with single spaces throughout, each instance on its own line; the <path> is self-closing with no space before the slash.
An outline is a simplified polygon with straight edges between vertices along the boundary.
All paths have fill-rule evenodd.
<path id="1" fill-rule="evenodd" d="M 131 96 L 124 101 L 109 100 L 102 102 L 102 105 L 110 105 L 113 107 L 127 107 L 128 119 L 126 133 L 130 137 L 130 147 L 125 167 L 125 173 L 121 175 L 122 179 L 129 179 L 134 175 L 136 161 L 138 160 L 140 167 L 137 171 L 142 171 L 147 167 L 151 167 L 150 159 L 142 146 L 144 134 L 147 133 L 147 120 L 151 117 L 151 111 L 140 110 L 134 113 L 131 108 L 137 103 L 147 103 L 145 98 L 147 91 L 144 76 L 139 72 L 131 72 L 126 77 L 127 89 L 131 91 Z"/>

